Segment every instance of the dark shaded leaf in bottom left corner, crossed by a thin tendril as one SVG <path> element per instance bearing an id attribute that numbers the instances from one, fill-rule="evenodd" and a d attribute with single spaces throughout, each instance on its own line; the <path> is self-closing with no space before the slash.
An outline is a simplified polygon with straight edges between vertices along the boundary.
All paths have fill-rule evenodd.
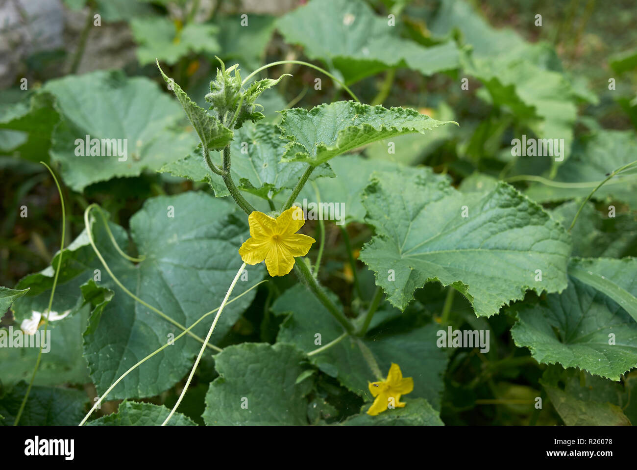
<path id="1" fill-rule="evenodd" d="M 27 384 L 20 382 L 0 396 L 0 425 L 10 426 L 18 414 L 27 393 Z M 20 426 L 76 426 L 84 416 L 89 402 L 86 393 L 71 388 L 34 385 L 20 417 Z"/>

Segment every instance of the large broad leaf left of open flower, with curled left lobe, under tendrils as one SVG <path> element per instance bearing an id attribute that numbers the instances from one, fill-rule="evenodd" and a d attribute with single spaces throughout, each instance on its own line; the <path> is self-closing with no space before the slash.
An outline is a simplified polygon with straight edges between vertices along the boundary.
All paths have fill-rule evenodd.
<path id="1" fill-rule="evenodd" d="M 125 247 L 124 230 L 115 224 L 110 226 L 115 241 Z M 248 238 L 245 217 L 237 216 L 232 205 L 203 193 L 161 196 L 147 200 L 132 216 L 130 226 L 134 244 L 146 256 L 136 265 L 115 251 L 101 218 L 92 221 L 99 251 L 129 291 L 185 326 L 221 304 L 241 265 L 238 248 Z M 84 334 L 84 355 L 98 393 L 138 360 L 180 333 L 179 328 L 133 300 L 113 282 L 92 254 L 86 233 L 66 249 L 62 264 L 55 311 L 81 303 L 78 284 L 93 279 L 94 270 L 101 270 L 101 281 L 89 284 L 84 290 L 85 299 L 90 298 L 95 307 L 90 328 Z M 262 275 L 261 265 L 248 267 L 248 280 L 239 282 L 234 294 L 247 290 Z M 20 281 L 18 286 L 32 286 L 34 295 L 19 299 L 23 302 L 14 304 L 16 311 L 21 308 L 30 316 L 31 309 L 45 302 L 51 283 L 52 269 Z M 113 299 L 100 302 L 97 288 L 112 290 Z M 58 293 L 66 295 L 58 297 Z M 250 293 L 227 305 L 211 342 L 219 341 L 230 330 L 253 297 L 254 293 Z M 194 333 L 203 337 L 210 321 L 201 322 Z M 200 346 L 189 336 L 176 341 L 127 376 L 110 398 L 148 397 L 167 390 L 189 371 L 192 356 Z"/>

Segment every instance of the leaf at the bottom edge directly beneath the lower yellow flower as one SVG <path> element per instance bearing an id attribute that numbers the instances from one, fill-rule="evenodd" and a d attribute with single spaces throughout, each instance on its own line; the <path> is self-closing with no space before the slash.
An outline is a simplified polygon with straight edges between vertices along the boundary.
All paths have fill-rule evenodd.
<path id="1" fill-rule="evenodd" d="M 380 415 L 369 416 L 365 413 L 371 405 L 365 405 L 360 415 L 354 415 L 340 423 L 342 426 L 444 426 L 438 411 L 431 408 L 427 400 L 401 399 L 404 408 L 388 409 Z"/>

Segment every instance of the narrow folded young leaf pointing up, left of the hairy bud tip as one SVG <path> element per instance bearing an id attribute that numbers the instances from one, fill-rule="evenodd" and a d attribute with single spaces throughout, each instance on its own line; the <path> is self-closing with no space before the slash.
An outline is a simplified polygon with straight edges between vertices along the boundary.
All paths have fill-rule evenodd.
<path id="1" fill-rule="evenodd" d="M 223 126 L 217 117 L 208 114 L 204 108 L 194 103 L 188 94 L 182 90 L 182 87 L 175 83 L 175 80 L 166 77 L 166 74 L 159 66 L 159 62 L 157 62 L 157 68 L 159 68 L 159 72 L 166 80 L 166 83 L 175 92 L 175 96 L 181 103 L 204 149 L 209 151 L 224 149 L 233 140 L 233 131 Z"/>

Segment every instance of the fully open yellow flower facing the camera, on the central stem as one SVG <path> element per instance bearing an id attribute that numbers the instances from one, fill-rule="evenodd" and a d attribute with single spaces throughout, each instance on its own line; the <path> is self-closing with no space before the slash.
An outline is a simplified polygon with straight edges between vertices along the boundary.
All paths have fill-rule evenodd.
<path id="1" fill-rule="evenodd" d="M 239 249 L 241 260 L 255 265 L 266 260 L 271 276 L 288 274 L 294 266 L 294 256 L 305 256 L 316 241 L 296 233 L 305 223 L 303 210 L 292 206 L 273 219 L 263 212 L 248 216 L 250 238 Z"/>

